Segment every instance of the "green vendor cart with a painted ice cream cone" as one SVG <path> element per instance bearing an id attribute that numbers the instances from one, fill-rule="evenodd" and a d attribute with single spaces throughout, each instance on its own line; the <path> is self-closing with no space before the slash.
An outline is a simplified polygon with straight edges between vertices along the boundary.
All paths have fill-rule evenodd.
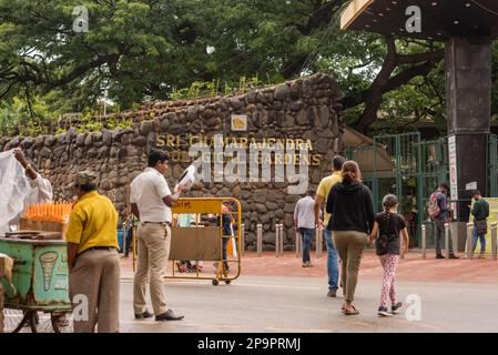
<path id="1" fill-rule="evenodd" d="M 12 235 L 0 237 L 0 253 L 13 258 L 11 281 L 1 280 L 4 332 L 71 332 L 67 243 Z"/>

